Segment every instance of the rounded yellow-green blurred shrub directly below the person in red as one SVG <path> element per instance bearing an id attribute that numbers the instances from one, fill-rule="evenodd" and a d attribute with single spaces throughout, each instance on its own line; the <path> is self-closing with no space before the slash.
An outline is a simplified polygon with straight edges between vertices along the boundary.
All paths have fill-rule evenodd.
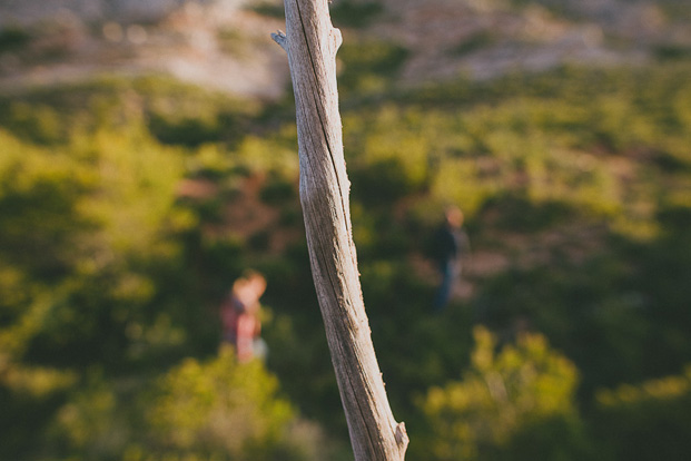
<path id="1" fill-rule="evenodd" d="M 158 449 L 150 455 L 165 459 L 171 451 L 243 459 L 254 447 L 270 452 L 294 418 L 260 362 L 238 364 L 230 349 L 206 362 L 186 360 L 155 391 L 148 421 Z"/>

